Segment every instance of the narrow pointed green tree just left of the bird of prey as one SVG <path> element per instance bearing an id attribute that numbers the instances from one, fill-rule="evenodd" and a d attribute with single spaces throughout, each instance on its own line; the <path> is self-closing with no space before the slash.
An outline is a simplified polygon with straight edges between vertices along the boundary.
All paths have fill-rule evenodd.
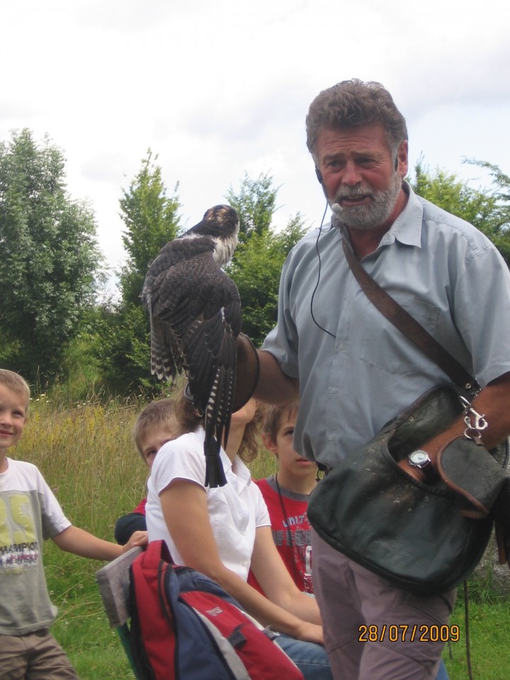
<path id="1" fill-rule="evenodd" d="M 103 306 L 98 325 L 96 356 L 103 380 L 116 393 L 154 390 L 158 384 L 150 375 L 149 317 L 140 293 L 149 262 L 179 232 L 180 204 L 176 196 L 179 185 L 174 196 L 166 196 L 156 161 L 149 149 L 129 189 L 123 189 L 120 210 L 128 257 L 119 272 L 120 301 Z"/>

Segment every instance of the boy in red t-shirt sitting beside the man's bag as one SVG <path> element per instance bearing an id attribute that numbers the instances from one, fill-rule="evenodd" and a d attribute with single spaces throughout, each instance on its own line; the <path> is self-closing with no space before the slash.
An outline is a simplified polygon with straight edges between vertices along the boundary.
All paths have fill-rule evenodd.
<path id="1" fill-rule="evenodd" d="M 317 465 L 293 449 L 297 409 L 268 407 L 263 416 L 264 446 L 276 457 L 278 472 L 265 480 L 254 480 L 268 506 L 273 540 L 297 587 L 313 593 L 312 529 L 307 517 L 308 497 L 317 484 Z M 248 582 L 260 590 L 250 572 Z"/>

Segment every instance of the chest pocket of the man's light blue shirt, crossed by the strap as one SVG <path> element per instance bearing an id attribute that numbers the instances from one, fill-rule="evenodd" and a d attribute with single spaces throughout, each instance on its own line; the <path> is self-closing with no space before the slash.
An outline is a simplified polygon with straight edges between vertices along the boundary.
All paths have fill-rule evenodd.
<path id="1" fill-rule="evenodd" d="M 438 307 L 414 297 L 395 296 L 395 302 L 411 314 L 429 334 L 434 335 L 440 317 Z M 415 373 L 424 368 L 426 361 L 421 349 L 383 317 L 374 305 L 370 305 L 365 317 L 360 358 L 387 373 Z"/>

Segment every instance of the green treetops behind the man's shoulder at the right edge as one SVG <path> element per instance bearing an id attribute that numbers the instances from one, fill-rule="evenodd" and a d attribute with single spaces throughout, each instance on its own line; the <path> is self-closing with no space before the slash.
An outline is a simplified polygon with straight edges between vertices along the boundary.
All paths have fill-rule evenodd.
<path id="1" fill-rule="evenodd" d="M 480 229 L 499 249 L 506 264 L 510 263 L 510 178 L 497 166 L 485 162 L 472 161 L 473 164 L 492 169 L 498 189 L 475 189 L 460 181 L 453 173 L 436 169 L 432 174 L 421 159 L 414 167 L 414 179 L 410 183 L 414 191 L 435 203 L 443 210 L 462 217 Z M 506 192 L 505 193 L 505 189 Z M 505 203 L 506 200 L 506 203 Z"/>

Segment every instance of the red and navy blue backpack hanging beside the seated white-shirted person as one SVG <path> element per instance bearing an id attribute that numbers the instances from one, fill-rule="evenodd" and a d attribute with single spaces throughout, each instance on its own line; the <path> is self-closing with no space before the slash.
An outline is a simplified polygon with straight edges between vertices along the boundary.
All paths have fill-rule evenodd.
<path id="1" fill-rule="evenodd" d="M 278 635 L 217 583 L 149 543 L 130 567 L 131 650 L 142 680 L 303 680 Z"/>

